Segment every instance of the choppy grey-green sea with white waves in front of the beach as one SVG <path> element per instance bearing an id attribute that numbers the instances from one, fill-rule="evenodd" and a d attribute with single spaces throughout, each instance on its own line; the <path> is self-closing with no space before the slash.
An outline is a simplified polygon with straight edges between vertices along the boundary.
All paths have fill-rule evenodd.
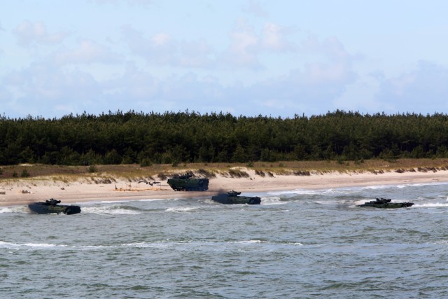
<path id="1" fill-rule="evenodd" d="M 243 195 L 0 207 L 0 298 L 448 298 L 448 184 Z"/>

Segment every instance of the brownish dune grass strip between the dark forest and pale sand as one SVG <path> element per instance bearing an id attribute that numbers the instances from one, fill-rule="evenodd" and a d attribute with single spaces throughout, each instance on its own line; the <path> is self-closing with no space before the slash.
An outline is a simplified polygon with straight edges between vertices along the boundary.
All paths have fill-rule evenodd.
<path id="1" fill-rule="evenodd" d="M 214 178 L 217 174 L 228 177 L 247 177 L 244 169 L 253 169 L 255 175 L 302 175 L 329 172 L 437 172 L 448 170 L 448 159 L 397 159 L 364 161 L 283 161 L 250 163 L 186 163 L 183 165 L 8 165 L 0 167 L 0 181 L 15 179 L 51 179 L 63 182 L 91 180 L 103 181 L 163 180 L 174 174 L 193 172 L 195 176 Z"/>

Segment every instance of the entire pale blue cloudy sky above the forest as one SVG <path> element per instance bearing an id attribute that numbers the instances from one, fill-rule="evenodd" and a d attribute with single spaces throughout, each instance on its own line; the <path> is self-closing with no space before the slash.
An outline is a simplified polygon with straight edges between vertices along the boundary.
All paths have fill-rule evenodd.
<path id="1" fill-rule="evenodd" d="M 0 116 L 448 113 L 448 1 L 0 0 Z"/>

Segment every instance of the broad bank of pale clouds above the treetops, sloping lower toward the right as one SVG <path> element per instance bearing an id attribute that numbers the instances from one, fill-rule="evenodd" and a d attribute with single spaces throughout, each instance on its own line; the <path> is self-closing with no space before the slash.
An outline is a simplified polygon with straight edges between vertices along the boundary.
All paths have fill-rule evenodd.
<path id="1" fill-rule="evenodd" d="M 98 15 L 109 10 L 118 16 L 123 11 L 156 18 L 169 12 L 163 5 L 103 0 L 86 1 L 83 8 Z M 411 61 L 391 74 L 374 63 L 378 57 L 353 48 L 344 37 L 318 36 L 293 19 L 282 22 L 261 1 L 234 5 L 237 13 L 222 13 L 230 20 L 222 28 L 197 20 L 194 34 L 137 17 L 111 18 L 114 22 L 98 17 L 97 22 L 76 20 L 74 25 L 59 20 L 66 26 L 56 26 L 58 22 L 43 22 L 39 15 L 22 20 L 17 14 L 0 22 L 5 41 L 0 45 L 5 65 L 0 112 L 52 118 L 83 111 L 189 110 L 286 118 L 336 109 L 448 111 L 443 62 Z M 209 6 L 201 13 L 216 8 Z M 189 13 L 195 12 L 179 18 L 190 20 Z"/>

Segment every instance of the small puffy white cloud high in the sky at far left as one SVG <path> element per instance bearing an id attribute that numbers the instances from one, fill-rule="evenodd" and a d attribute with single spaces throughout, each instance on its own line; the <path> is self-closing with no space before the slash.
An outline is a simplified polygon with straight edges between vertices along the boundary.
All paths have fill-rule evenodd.
<path id="1" fill-rule="evenodd" d="M 48 34 L 43 22 L 22 22 L 13 29 L 13 34 L 18 39 L 20 46 L 30 46 L 34 43 L 60 43 L 68 35 L 65 32 Z"/>

